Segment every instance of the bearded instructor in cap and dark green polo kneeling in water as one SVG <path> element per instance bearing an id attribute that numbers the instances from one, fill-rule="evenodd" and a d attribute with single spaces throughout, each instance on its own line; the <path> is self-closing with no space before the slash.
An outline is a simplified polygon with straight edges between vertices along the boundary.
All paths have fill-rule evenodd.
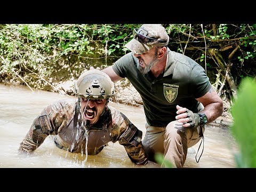
<path id="1" fill-rule="evenodd" d="M 168 43 L 162 25 L 144 24 L 125 45 L 132 52 L 103 71 L 114 82 L 126 77 L 140 93 L 147 122 L 142 144 L 149 160 L 162 153 L 174 167 L 183 167 L 188 148 L 204 138 L 206 123 L 221 116 L 223 102 L 204 68 L 171 51 Z"/>

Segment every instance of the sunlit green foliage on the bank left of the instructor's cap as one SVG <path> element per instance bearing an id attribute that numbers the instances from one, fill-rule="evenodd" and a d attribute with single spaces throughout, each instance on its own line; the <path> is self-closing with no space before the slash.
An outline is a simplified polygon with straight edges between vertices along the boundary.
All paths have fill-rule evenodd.
<path id="1" fill-rule="evenodd" d="M 138 27 L 113 24 L 1 25 L 0 81 L 8 80 L 17 74 L 20 77 L 26 76 L 27 81 L 32 81 L 30 79 L 35 78 L 35 74 L 38 74 L 38 79 L 49 79 L 51 74 L 58 73 L 62 66 L 69 70 L 84 70 L 87 67 L 76 66 L 74 58 L 107 59 L 113 54 L 122 57 L 127 51 L 123 49 L 123 45 L 131 39 L 127 38 L 127 35 L 130 35 L 128 32 L 136 26 Z M 63 60 L 66 60 L 65 63 Z"/>

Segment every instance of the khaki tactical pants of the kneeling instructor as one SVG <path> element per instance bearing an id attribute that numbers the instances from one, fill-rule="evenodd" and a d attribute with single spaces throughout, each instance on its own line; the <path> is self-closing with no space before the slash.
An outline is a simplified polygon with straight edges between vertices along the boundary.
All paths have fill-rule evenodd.
<path id="1" fill-rule="evenodd" d="M 178 121 L 170 122 L 166 127 L 150 126 L 146 123 L 146 134 L 142 141 L 149 161 L 155 162 L 155 153 L 162 153 L 164 161 L 171 162 L 173 167 L 183 167 L 188 148 L 202 139 L 204 125 L 193 129 L 183 127 Z M 164 164 L 161 165 L 164 167 Z"/>

